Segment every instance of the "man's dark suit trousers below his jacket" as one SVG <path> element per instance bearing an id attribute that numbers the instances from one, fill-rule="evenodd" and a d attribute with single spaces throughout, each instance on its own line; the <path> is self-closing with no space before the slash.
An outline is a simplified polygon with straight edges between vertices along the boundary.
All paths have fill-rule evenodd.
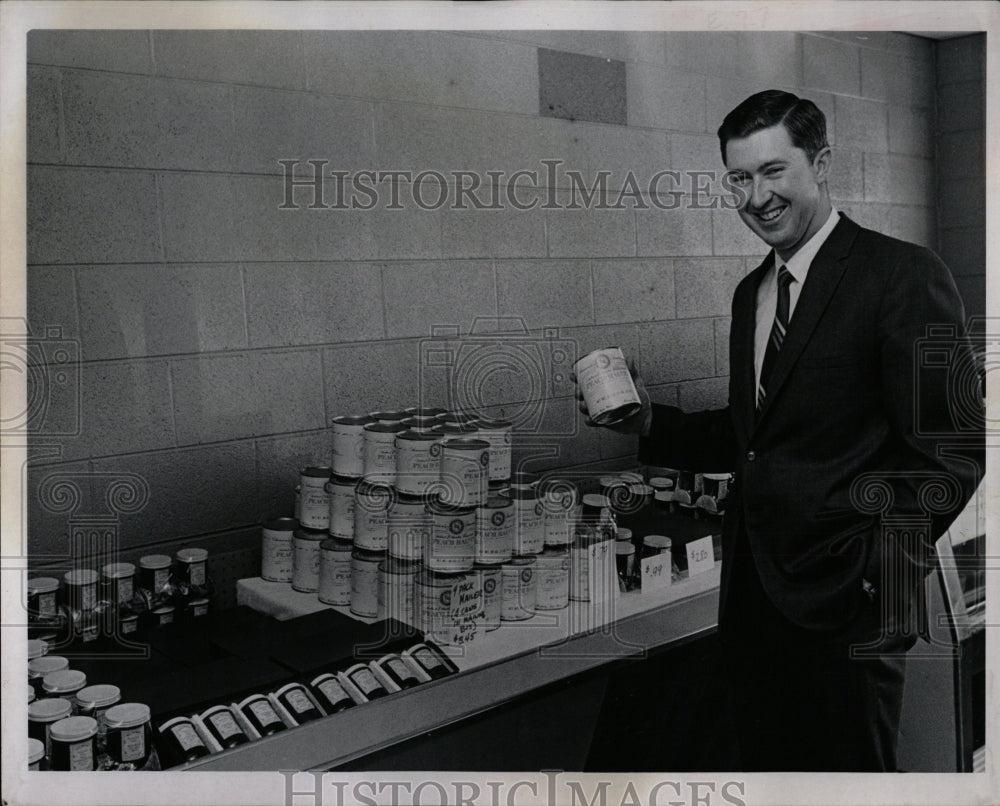
<path id="1" fill-rule="evenodd" d="M 745 771 L 896 769 L 904 653 L 912 636 L 885 639 L 878 597 L 836 631 L 803 629 L 764 592 L 743 538 L 719 626 Z M 881 642 L 851 657 L 851 647 Z"/>

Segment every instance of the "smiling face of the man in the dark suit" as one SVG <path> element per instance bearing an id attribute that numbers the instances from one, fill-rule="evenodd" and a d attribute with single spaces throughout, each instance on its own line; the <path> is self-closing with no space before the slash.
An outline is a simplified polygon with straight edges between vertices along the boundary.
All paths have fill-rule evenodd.
<path id="1" fill-rule="evenodd" d="M 827 148 L 810 161 L 780 123 L 726 144 L 728 180 L 743 196 L 740 218 L 782 259 L 826 221 L 829 159 Z"/>

